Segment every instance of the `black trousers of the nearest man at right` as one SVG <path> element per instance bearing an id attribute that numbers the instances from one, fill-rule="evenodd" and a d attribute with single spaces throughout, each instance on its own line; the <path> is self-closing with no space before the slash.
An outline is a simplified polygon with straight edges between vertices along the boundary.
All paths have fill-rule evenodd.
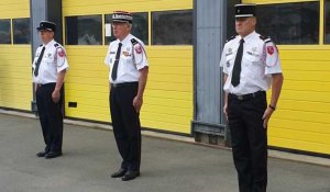
<path id="1" fill-rule="evenodd" d="M 240 192 L 265 192 L 267 185 L 267 132 L 262 116 L 266 93 L 246 99 L 229 94 L 228 118 Z"/>

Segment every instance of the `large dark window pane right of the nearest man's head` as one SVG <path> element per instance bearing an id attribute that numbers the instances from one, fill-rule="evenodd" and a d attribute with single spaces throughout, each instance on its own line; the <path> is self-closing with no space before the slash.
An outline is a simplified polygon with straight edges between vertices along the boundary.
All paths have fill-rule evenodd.
<path id="1" fill-rule="evenodd" d="M 258 5 L 256 31 L 277 44 L 319 44 L 319 2 Z"/>

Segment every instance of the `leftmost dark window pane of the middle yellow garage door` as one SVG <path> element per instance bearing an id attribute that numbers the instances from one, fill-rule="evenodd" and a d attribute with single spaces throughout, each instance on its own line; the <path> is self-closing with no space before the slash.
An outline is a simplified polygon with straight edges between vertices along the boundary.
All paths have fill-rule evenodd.
<path id="1" fill-rule="evenodd" d="M 102 45 L 102 16 L 66 16 L 67 45 Z"/>

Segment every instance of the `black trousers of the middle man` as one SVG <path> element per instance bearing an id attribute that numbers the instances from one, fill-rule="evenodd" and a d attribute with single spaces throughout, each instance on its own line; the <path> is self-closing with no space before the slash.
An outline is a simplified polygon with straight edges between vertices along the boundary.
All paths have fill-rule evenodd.
<path id="1" fill-rule="evenodd" d="M 141 163 L 141 124 L 133 106 L 138 89 L 138 82 L 111 86 L 109 97 L 113 134 L 123 159 L 121 168 L 132 171 L 140 171 Z"/>

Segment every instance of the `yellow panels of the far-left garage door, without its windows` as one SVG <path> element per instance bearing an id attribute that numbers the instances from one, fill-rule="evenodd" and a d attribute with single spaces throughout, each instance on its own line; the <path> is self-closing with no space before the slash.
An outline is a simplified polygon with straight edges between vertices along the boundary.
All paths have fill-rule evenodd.
<path id="1" fill-rule="evenodd" d="M 29 0 L 0 2 L 0 19 L 30 18 Z M 30 110 L 31 45 L 0 44 L 0 108 Z"/>

